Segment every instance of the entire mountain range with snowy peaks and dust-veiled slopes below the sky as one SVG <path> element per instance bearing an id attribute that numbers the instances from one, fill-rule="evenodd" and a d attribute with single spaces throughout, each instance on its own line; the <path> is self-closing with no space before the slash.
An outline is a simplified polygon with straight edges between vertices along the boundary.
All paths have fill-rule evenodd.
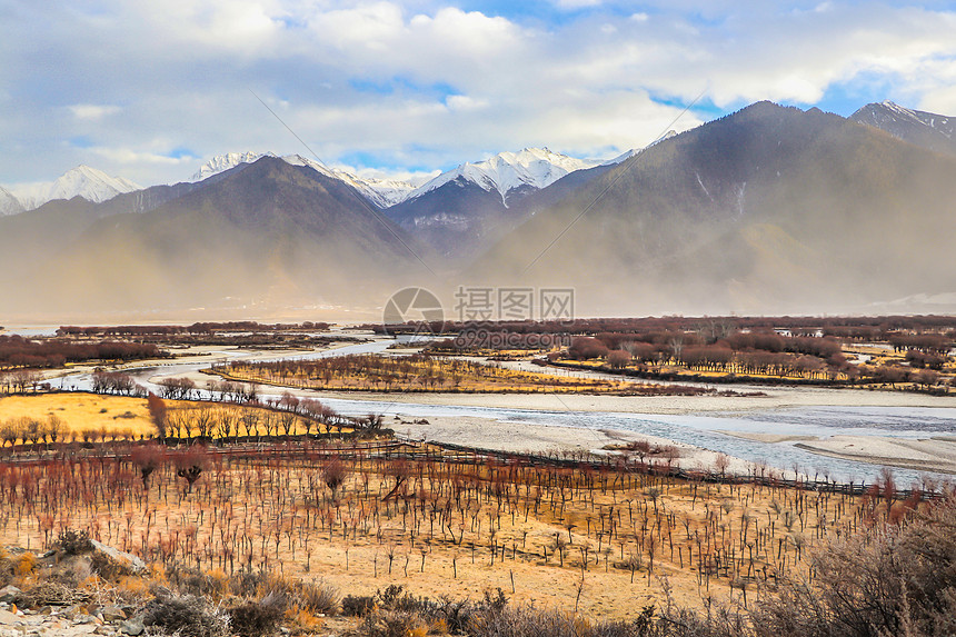
<path id="1" fill-rule="evenodd" d="M 579 315 L 952 311 L 950 121 L 758 102 L 616 161 L 525 149 L 417 187 L 232 153 L 100 201 L 0 189 L 0 317 L 374 311 L 406 285 L 571 287 Z"/>

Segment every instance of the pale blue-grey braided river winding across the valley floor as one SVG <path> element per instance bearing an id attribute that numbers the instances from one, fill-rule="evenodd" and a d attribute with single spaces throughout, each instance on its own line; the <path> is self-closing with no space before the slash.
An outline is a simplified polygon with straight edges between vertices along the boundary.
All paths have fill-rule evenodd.
<path id="1" fill-rule="evenodd" d="M 347 354 L 381 352 L 394 341 L 376 340 L 350 345 L 338 349 L 277 356 L 279 358 L 316 359 Z M 237 350 L 222 350 L 201 364 L 171 362 L 158 367 L 129 369 L 137 382 L 158 392 L 150 381 L 157 376 L 181 376 L 209 367 L 213 361 L 246 356 Z M 63 389 L 90 390 L 91 378 L 88 374 L 68 375 L 57 379 L 54 385 Z M 265 388 L 260 388 L 261 389 Z M 263 397 L 281 394 L 266 391 Z M 201 397 L 209 398 L 206 390 Z M 701 412 L 700 415 L 657 415 L 616 411 L 569 411 L 541 409 L 506 409 L 497 407 L 470 407 L 456 405 L 418 405 L 382 400 L 350 400 L 325 397 L 317 391 L 316 397 L 331 408 L 347 416 L 362 416 L 370 412 L 382 414 L 390 418 L 401 415 L 408 418 L 477 417 L 507 422 L 528 422 L 534 425 L 576 427 L 591 429 L 617 429 L 659 436 L 678 442 L 686 442 L 723 451 L 750 462 L 766 462 L 771 467 L 793 472 L 795 467 L 801 474 L 820 478 L 826 474 L 830 479 L 843 482 L 860 480 L 873 482 L 882 467 L 854 460 L 828 458 L 810 454 L 794 444 L 767 444 L 746 440 L 721 434 L 720 431 L 741 431 L 759 434 L 786 434 L 794 436 L 827 437 L 835 435 L 892 436 L 898 438 L 932 438 L 935 436 L 956 436 L 956 407 L 954 408 L 910 408 L 910 407 L 836 407 L 813 406 L 789 409 L 750 409 L 739 412 Z M 897 484 L 909 486 L 927 475 L 909 469 L 893 469 Z M 932 475 L 932 474 L 930 474 Z M 934 478 L 942 476 L 932 475 Z"/>

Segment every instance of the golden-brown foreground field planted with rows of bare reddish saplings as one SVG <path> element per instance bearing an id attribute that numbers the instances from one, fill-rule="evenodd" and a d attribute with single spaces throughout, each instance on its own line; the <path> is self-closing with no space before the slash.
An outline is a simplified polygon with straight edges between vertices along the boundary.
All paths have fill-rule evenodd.
<path id="1" fill-rule="evenodd" d="M 810 575 L 805 556 L 824 539 L 918 506 L 388 441 L 157 451 L 145 488 L 141 450 L 103 449 L 0 464 L 0 541 L 36 549 L 87 529 L 215 577 L 265 569 L 343 595 L 398 584 L 477 599 L 501 588 L 539 607 L 621 618 L 668 595 L 694 607 L 745 604 L 781 575 Z M 189 491 L 177 468 L 193 466 L 202 470 Z"/>

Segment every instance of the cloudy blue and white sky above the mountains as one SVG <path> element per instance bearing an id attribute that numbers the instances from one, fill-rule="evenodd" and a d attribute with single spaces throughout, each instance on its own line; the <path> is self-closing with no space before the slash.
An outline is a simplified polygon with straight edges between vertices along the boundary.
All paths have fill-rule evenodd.
<path id="1" fill-rule="evenodd" d="M 0 0 L 0 183 L 246 150 L 394 178 L 610 158 L 765 99 L 956 115 L 954 34 L 932 0 Z"/>

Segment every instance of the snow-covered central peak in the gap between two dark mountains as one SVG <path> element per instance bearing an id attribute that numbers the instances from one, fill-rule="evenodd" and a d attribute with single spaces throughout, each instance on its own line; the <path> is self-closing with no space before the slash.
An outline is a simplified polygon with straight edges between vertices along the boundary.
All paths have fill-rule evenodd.
<path id="1" fill-rule="evenodd" d="M 420 197 L 450 181 L 464 179 L 485 190 L 497 190 L 506 199 L 508 192 L 516 188 L 541 189 L 569 172 L 599 165 L 600 161 L 575 159 L 547 148 L 525 148 L 518 152 L 500 152 L 484 161 L 462 163 L 417 188 L 408 198 Z"/>

